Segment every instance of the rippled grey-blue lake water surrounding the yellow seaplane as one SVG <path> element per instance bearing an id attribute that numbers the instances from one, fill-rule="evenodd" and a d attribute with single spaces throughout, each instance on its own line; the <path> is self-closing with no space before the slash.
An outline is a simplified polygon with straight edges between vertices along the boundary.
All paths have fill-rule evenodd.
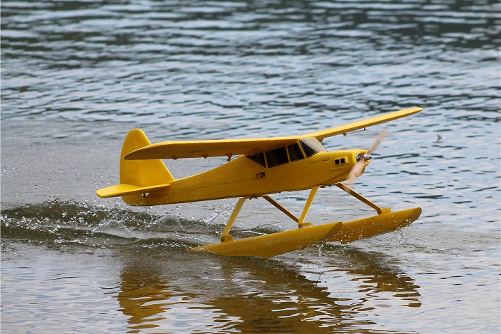
<path id="1" fill-rule="evenodd" d="M 2 333 L 499 333 L 498 1 L 2 1 Z M 132 209 L 122 140 L 301 134 L 411 106 L 356 189 L 413 225 L 191 254 L 236 200 Z M 325 141 L 367 148 L 382 126 Z M 166 161 L 176 177 L 222 159 Z M 308 193 L 277 198 L 299 212 Z M 292 228 L 264 201 L 236 237 Z M 321 189 L 315 223 L 370 216 Z"/>

